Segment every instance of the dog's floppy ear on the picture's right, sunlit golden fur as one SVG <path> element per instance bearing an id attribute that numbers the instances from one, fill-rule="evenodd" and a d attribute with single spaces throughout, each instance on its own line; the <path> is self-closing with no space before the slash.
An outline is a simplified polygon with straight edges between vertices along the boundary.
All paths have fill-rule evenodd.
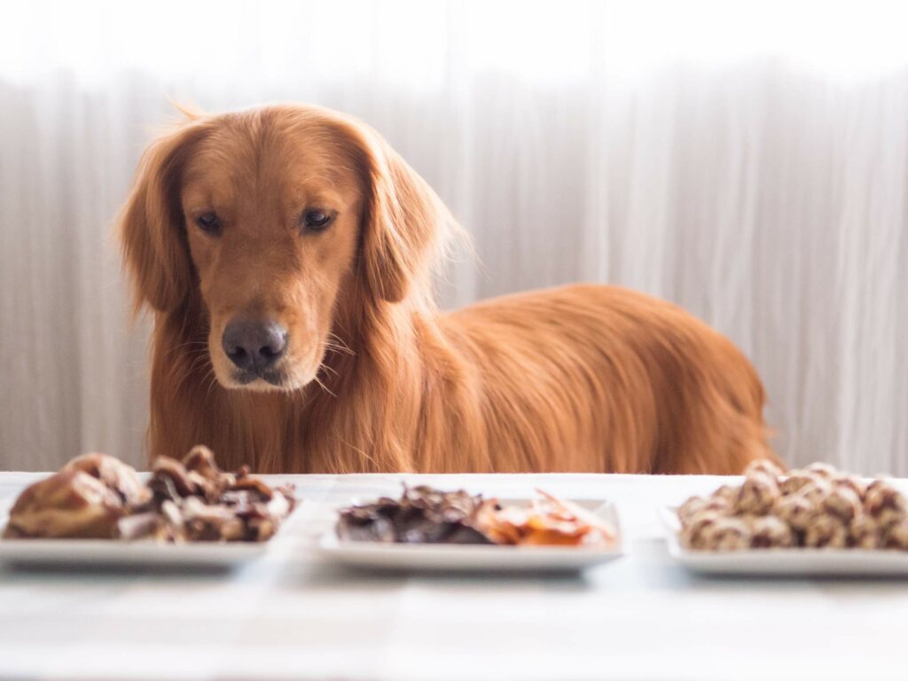
<path id="1" fill-rule="evenodd" d="M 438 194 L 378 133 L 351 124 L 365 177 L 360 273 L 375 300 L 398 302 L 429 276 L 439 240 L 453 224 Z"/>

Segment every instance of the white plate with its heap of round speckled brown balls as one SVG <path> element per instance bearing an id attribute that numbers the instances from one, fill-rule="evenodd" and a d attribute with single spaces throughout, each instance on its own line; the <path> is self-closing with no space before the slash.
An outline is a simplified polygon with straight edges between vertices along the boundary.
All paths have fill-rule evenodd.
<path id="1" fill-rule="evenodd" d="M 715 575 L 908 577 L 908 503 L 884 478 L 757 461 L 740 485 L 663 508 L 668 552 Z"/>

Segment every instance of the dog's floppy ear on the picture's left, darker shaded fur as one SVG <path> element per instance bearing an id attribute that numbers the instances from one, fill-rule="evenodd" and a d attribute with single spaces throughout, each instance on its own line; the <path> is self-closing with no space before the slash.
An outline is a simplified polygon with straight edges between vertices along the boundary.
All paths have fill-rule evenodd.
<path id="1" fill-rule="evenodd" d="M 189 294 L 192 268 L 180 182 L 191 147 L 205 132 L 198 120 L 183 123 L 155 140 L 139 162 L 118 226 L 135 311 L 145 304 L 173 310 Z"/>

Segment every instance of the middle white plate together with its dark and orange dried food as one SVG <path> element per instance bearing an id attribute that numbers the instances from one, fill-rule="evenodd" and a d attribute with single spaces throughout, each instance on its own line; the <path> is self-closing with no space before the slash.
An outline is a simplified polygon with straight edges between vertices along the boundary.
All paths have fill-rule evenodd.
<path id="1" fill-rule="evenodd" d="M 623 555 L 608 502 L 426 486 L 341 508 L 318 551 L 348 566 L 429 571 L 577 571 Z"/>

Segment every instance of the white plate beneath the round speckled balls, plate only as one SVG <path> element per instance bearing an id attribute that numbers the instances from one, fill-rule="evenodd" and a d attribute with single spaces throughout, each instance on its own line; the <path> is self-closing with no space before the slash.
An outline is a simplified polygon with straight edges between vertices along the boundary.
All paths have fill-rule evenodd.
<path id="1" fill-rule="evenodd" d="M 908 577 L 908 552 L 858 548 L 754 548 L 695 551 L 681 546 L 676 508 L 661 508 L 668 553 L 705 575 L 765 577 Z"/>

